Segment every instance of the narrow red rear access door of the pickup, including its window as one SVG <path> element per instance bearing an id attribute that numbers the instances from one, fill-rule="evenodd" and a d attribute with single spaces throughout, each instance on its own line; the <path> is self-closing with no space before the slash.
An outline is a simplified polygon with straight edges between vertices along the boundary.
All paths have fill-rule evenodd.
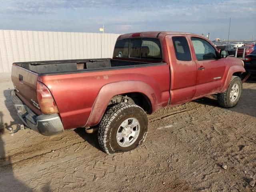
<path id="1" fill-rule="evenodd" d="M 196 94 L 196 63 L 186 35 L 167 35 L 166 45 L 170 63 L 170 104 L 190 101 Z"/>

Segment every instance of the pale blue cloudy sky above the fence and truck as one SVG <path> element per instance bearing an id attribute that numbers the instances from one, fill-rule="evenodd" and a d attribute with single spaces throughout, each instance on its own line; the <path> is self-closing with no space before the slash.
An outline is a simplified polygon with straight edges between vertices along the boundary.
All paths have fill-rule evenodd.
<path id="1" fill-rule="evenodd" d="M 180 31 L 256 39 L 256 0 L 0 0 L 0 29 L 124 34 Z"/>

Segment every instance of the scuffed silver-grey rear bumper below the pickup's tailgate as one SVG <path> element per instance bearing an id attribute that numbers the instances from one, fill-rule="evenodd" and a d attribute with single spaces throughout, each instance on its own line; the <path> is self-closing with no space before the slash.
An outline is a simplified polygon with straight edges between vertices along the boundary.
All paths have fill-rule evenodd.
<path id="1" fill-rule="evenodd" d="M 18 117 L 26 127 L 46 136 L 55 135 L 64 131 L 62 121 L 58 114 L 35 114 L 15 95 L 14 90 L 11 91 L 11 99 L 17 110 Z"/>

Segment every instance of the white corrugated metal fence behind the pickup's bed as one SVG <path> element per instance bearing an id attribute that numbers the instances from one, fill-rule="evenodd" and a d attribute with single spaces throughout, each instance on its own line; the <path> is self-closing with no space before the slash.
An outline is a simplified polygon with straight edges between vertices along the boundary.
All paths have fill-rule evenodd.
<path id="1" fill-rule="evenodd" d="M 0 30 L 0 73 L 13 62 L 111 58 L 120 34 Z"/>

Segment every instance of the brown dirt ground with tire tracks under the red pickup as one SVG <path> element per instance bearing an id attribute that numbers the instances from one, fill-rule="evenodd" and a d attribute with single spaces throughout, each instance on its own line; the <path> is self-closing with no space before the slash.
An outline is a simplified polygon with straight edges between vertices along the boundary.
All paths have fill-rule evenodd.
<path id="1" fill-rule="evenodd" d="M 10 101 L 9 74 L 0 74 L 0 191 L 256 191 L 256 82 L 240 102 L 220 108 L 213 96 L 148 116 L 146 142 L 107 155 L 84 128 L 55 136 L 21 123 Z M 222 166 L 226 165 L 227 169 Z"/>

